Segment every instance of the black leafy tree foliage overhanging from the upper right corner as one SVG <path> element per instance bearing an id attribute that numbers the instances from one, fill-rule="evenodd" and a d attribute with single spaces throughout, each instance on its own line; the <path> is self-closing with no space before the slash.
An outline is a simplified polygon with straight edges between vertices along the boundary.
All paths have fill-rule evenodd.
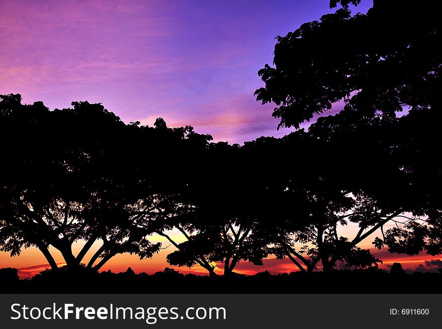
<path id="1" fill-rule="evenodd" d="M 335 14 L 276 37 L 274 67 L 258 72 L 265 87 L 255 95 L 276 104 L 278 128 L 299 127 L 338 101 L 390 117 L 439 102 L 442 4 L 374 1 L 367 14 L 352 16 L 350 2 L 340 3 Z"/>

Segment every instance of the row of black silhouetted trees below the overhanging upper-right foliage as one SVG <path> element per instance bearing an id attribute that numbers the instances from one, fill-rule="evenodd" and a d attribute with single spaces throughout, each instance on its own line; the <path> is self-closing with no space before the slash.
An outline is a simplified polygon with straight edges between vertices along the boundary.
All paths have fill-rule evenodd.
<path id="1" fill-rule="evenodd" d="M 347 108 L 308 132 L 240 146 L 160 118 L 124 124 L 101 104 L 49 111 L 0 97 L 0 246 L 13 256 L 35 246 L 53 271 L 49 246 L 67 268 L 98 271 L 117 254 L 152 257 L 161 248 L 152 235 L 176 247 L 169 264 L 210 275 L 216 264 L 230 275 L 271 254 L 307 272 L 377 266 L 357 245 L 378 230 L 377 248 L 440 254 L 438 109 L 396 118 Z M 349 222 L 358 233 L 340 236 Z"/>

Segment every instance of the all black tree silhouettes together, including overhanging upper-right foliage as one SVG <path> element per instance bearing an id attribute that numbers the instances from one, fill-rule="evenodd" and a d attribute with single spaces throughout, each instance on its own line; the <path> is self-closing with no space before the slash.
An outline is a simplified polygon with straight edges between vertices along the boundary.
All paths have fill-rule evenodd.
<path id="1" fill-rule="evenodd" d="M 169 264 L 210 276 L 269 255 L 300 272 L 376 268 L 358 247 L 369 238 L 440 255 L 442 3 L 375 1 L 356 15 L 359 0 L 338 3 L 277 37 L 273 66 L 258 72 L 255 94 L 276 105 L 279 127 L 344 103 L 283 138 L 211 143 L 161 118 L 125 124 L 100 103 L 50 111 L 1 95 L 0 250 L 35 246 L 57 272 L 52 246 L 70 271 L 96 272 L 117 254 L 144 259 L 171 245 Z M 349 223 L 355 236 L 342 235 Z"/>

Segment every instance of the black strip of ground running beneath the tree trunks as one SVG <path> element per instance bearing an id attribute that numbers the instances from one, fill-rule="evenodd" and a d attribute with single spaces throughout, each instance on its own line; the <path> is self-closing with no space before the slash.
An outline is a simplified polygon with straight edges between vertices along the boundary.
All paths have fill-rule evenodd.
<path id="1" fill-rule="evenodd" d="M 261 272 L 209 278 L 165 269 L 152 275 L 44 271 L 19 280 L 16 269 L 0 269 L 0 293 L 442 293 L 442 273 L 390 273 L 382 269 L 272 275 Z"/>

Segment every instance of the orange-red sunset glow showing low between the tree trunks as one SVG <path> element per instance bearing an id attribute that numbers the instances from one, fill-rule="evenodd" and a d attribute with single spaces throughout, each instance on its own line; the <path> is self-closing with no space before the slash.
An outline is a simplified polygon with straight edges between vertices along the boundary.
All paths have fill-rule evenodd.
<path id="1" fill-rule="evenodd" d="M 341 228 L 340 235 L 345 235 L 348 237 L 352 237 L 356 232 L 356 226 L 348 226 Z M 407 256 L 407 255 L 398 255 L 398 254 L 390 254 L 386 248 L 382 250 L 373 249 L 371 242 L 374 237 L 378 234 L 375 232 L 368 239 L 363 241 L 359 247 L 364 249 L 371 249 L 373 255 L 383 261 L 383 264 L 380 264 L 380 268 L 385 270 L 389 270 L 389 266 L 391 266 L 394 262 L 399 262 L 402 264 L 402 267 L 409 271 L 413 272 L 415 270 L 421 272 L 427 271 L 437 271 L 438 263 L 440 262 L 440 256 L 429 256 L 425 253 L 421 253 L 416 256 Z M 178 241 L 184 241 L 181 236 L 178 234 L 174 234 L 172 231 L 172 237 Z M 109 260 L 102 268 L 102 271 L 111 270 L 112 272 L 124 272 L 128 269 L 128 267 L 132 268 L 135 273 L 145 272 L 148 274 L 153 274 L 158 271 L 162 271 L 165 267 L 174 268 L 180 271 L 183 274 L 193 273 L 196 275 L 207 275 L 207 271 L 200 266 L 194 266 L 192 268 L 187 267 L 175 267 L 166 263 L 166 255 L 173 252 L 175 248 L 170 246 L 168 242 L 165 242 L 162 237 L 153 236 L 149 239 L 152 242 L 162 242 L 163 248 L 160 250 L 158 254 L 155 254 L 151 259 L 140 260 L 136 255 L 122 254 L 117 255 L 111 260 Z M 78 253 L 83 245 L 83 242 L 77 242 L 73 246 L 74 253 Z M 96 243 L 91 250 L 86 254 L 85 260 L 90 259 L 93 252 L 99 248 L 100 244 Z M 167 247 L 167 248 L 166 248 Z M 64 265 L 63 257 L 61 254 L 54 248 L 50 248 L 51 254 L 54 256 L 55 261 L 59 266 Z M 442 265 L 442 262 L 440 262 Z M 44 271 L 46 268 L 49 268 L 46 259 L 43 254 L 37 248 L 28 248 L 24 249 L 20 256 L 10 257 L 9 253 L 0 252 L 0 268 L 3 267 L 14 267 L 19 270 L 20 278 L 30 278 L 35 274 Z M 241 262 L 235 268 L 235 272 L 247 275 L 253 275 L 258 272 L 269 271 L 272 274 L 278 273 L 290 273 L 293 271 L 298 271 L 297 267 L 288 259 L 278 260 L 275 259 L 274 256 L 270 256 L 269 258 L 264 260 L 263 266 L 255 266 L 249 262 Z M 218 264 L 215 269 L 215 272 L 218 274 L 223 273 L 223 264 Z"/>

